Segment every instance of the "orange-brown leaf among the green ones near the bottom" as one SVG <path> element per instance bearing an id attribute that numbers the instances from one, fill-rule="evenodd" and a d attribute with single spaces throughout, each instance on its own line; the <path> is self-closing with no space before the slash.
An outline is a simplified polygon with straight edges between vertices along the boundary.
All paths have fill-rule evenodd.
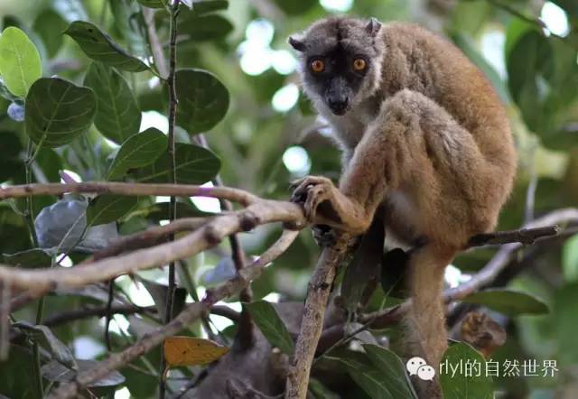
<path id="1" fill-rule="evenodd" d="M 163 352 L 167 367 L 198 366 L 219 359 L 228 348 L 210 339 L 170 337 L 164 339 Z"/>

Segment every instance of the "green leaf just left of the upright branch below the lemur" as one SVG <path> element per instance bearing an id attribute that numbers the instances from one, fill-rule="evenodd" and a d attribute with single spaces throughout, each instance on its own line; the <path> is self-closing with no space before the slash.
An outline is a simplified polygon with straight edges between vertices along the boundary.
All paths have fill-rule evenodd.
<path id="1" fill-rule="evenodd" d="M 244 306 L 247 307 L 247 311 L 251 313 L 256 326 L 271 346 L 279 348 L 284 354 L 291 356 L 294 351 L 294 341 L 273 305 L 266 301 L 257 301 L 245 303 Z"/>

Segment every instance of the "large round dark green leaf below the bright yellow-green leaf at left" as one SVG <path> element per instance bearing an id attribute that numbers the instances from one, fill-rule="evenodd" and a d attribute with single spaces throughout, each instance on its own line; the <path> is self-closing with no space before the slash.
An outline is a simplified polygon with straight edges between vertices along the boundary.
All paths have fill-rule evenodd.
<path id="1" fill-rule="evenodd" d="M 59 78 L 38 79 L 26 97 L 26 133 L 42 146 L 69 144 L 89 130 L 96 110 L 90 88 Z"/>

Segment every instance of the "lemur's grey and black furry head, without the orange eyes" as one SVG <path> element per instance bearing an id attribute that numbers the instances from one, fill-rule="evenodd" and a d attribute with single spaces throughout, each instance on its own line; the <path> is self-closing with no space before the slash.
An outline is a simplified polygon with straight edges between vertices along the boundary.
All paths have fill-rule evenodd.
<path id="1" fill-rule="evenodd" d="M 373 18 L 339 17 L 313 23 L 289 38 L 300 52 L 303 88 L 320 111 L 342 116 L 378 90 L 385 51 L 380 30 Z M 363 70 L 354 67 L 359 59 L 365 62 Z M 322 71 L 316 71 L 320 65 Z"/>

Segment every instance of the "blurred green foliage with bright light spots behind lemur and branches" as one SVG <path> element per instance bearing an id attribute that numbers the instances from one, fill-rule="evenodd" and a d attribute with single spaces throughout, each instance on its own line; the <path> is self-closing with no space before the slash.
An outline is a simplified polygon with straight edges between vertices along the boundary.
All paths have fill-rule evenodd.
<path id="1" fill-rule="evenodd" d="M 321 3 L 321 4 L 320 4 Z M 81 85 L 91 60 L 69 36 L 62 35 L 75 20 L 96 23 L 130 53 L 147 57 L 145 32 L 135 1 L 111 0 L 3 0 L 0 4 L 2 28 L 18 26 L 40 51 L 44 77 L 58 75 Z M 527 214 L 528 187 L 536 185 L 534 212 L 578 204 L 578 5 L 573 0 L 508 1 L 401 1 L 401 0 L 230 0 L 227 10 L 208 21 L 192 21 L 189 12 L 180 15 L 182 32 L 178 65 L 210 70 L 230 94 L 227 115 L 206 133 L 210 148 L 220 158 L 220 176 L 228 186 L 240 187 L 257 195 L 286 199 L 288 183 L 303 174 L 337 177 L 339 153 L 331 146 L 324 130 L 316 125 L 311 109 L 298 97 L 294 58 L 286 44 L 290 33 L 304 29 L 318 18 L 340 10 L 348 14 L 375 16 L 382 21 L 405 20 L 423 23 L 452 38 L 484 70 L 508 107 L 519 151 L 516 190 L 502 212 L 500 229 L 519 227 Z M 517 14 L 519 13 L 519 14 Z M 162 42 L 167 41 L 166 13 L 157 15 Z M 189 13 L 191 14 L 191 13 Z M 128 17 L 127 17 L 128 15 Z M 133 16 L 131 16 L 133 15 Z M 217 16 L 218 15 L 218 16 Z M 538 26 L 542 16 L 551 32 Z M 187 20 L 186 18 L 191 18 Z M 216 22 L 217 21 L 217 22 Z M 555 34 L 552 34 L 555 33 Z M 140 130 L 156 127 L 166 133 L 166 92 L 150 72 L 121 72 L 144 113 Z M 0 97 L 0 181 L 25 181 L 27 136 L 23 123 L 9 116 L 11 100 Z M 18 104 L 19 101 L 16 101 Z M 190 134 L 201 133 L 189 131 Z M 179 129 L 177 137 L 190 143 L 191 137 Z M 105 171 L 117 151 L 117 144 L 106 141 L 92 125 L 89 132 L 59 148 L 43 148 L 36 159 L 33 180 L 60 181 L 59 171 L 69 171 L 81 181 L 106 179 Z M 40 171 L 40 172 L 38 172 Z M 74 173 L 71 173 L 74 172 Z M 78 177 L 77 177 L 78 176 Z M 207 179 L 205 179 L 206 181 Z M 202 182 L 202 181 L 199 181 Z M 4 183 L 3 183 L 4 184 Z M 55 198 L 33 200 L 33 215 L 53 203 Z M 149 213 L 154 200 L 139 199 L 135 208 L 119 218 L 120 234 L 128 234 L 161 217 Z M 188 203 L 192 212 L 214 210 L 209 200 Z M 22 210 L 23 204 L 16 204 Z M 14 254 L 32 247 L 25 220 L 5 202 L 0 203 L 0 254 Z M 258 228 L 243 235 L 249 254 L 259 254 L 275 239 L 274 227 Z M 302 301 L 312 264 L 319 250 L 310 235 L 303 233 L 275 267 L 253 284 L 256 299 Z M 186 260 L 194 287 L 189 286 L 188 301 L 201 296 L 210 273 L 221 264 L 226 270 L 228 247 Z M 461 255 L 455 265 L 471 273 L 485 264 L 492 251 L 478 250 Z M 81 255 L 72 254 L 73 264 Z M 225 260 L 223 260 L 225 259 Z M 209 274 L 209 278 L 207 277 Z M 139 274 L 156 283 L 166 283 L 165 274 L 151 271 Z M 519 316 L 507 320 L 508 341 L 496 357 L 510 359 L 557 359 L 557 378 L 499 378 L 496 388 L 503 397 L 550 398 L 578 395 L 578 347 L 575 345 L 578 311 L 578 237 L 564 246 L 553 246 L 527 267 L 527 273 L 508 282 L 511 287 L 543 299 L 551 313 Z M 154 304 L 142 283 L 123 277 L 118 289 L 136 304 Z M 383 295 L 383 292 L 382 292 Z M 45 315 L 84 305 L 102 305 L 102 292 L 85 295 L 48 297 Z M 379 302 L 379 301 L 378 301 Z M 231 303 L 235 309 L 238 302 Z M 14 313 L 15 320 L 33 321 L 36 304 Z M 211 316 L 213 328 L 232 337 L 234 326 L 219 316 Z M 133 342 L 150 329 L 135 317 L 117 315 L 112 323 L 113 348 Z M 103 341 L 104 319 L 79 320 L 53 328 L 76 357 L 101 358 L 106 354 Z M 202 334 L 200 325 L 191 334 Z M 156 390 L 158 351 L 138 363 L 148 369 L 143 374 L 126 368 L 126 385 L 119 386 L 118 397 L 151 397 Z M 0 393 L 10 397 L 30 394 L 30 354 L 16 349 L 8 362 L 0 364 Z M 179 378 L 190 378 L 198 369 L 181 370 L 172 375 L 175 389 Z M 357 392 L 356 395 L 361 395 Z M 346 397 L 346 396 L 344 396 Z M 352 397 L 352 396 L 350 396 Z M 358 396 L 356 396 L 358 397 Z M 361 396 L 359 396 L 361 397 Z"/>

